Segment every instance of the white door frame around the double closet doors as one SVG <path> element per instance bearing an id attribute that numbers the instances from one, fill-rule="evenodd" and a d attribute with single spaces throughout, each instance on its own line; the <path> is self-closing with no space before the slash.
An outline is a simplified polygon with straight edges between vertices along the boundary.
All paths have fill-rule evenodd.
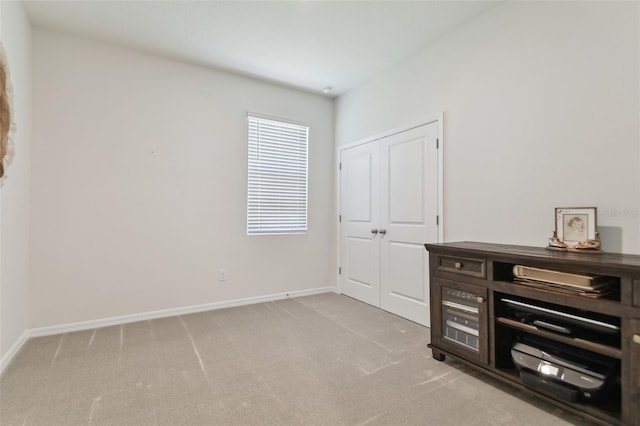
<path id="1" fill-rule="evenodd" d="M 397 133 L 401 133 L 401 132 L 405 132 L 407 130 L 411 130 L 414 129 L 416 127 L 420 127 L 420 126 L 424 126 L 426 124 L 431 124 L 437 122 L 438 123 L 438 183 L 437 183 L 437 188 L 438 188 L 438 206 L 437 206 L 437 212 L 438 212 L 438 224 L 437 224 L 437 229 L 438 229 L 438 243 L 441 243 L 444 241 L 444 113 L 441 112 L 431 118 L 428 118 L 426 120 L 420 120 L 414 123 L 410 123 L 407 124 L 405 126 L 402 127 L 396 127 L 394 129 L 390 129 L 387 130 L 385 132 L 379 133 L 377 135 L 374 136 L 370 136 L 364 139 L 360 139 L 358 141 L 355 142 L 350 142 L 344 145 L 340 145 L 337 147 L 336 150 L 336 244 L 338 246 L 338 250 L 337 250 L 337 265 L 338 268 L 341 267 L 340 265 L 340 259 L 341 259 L 341 252 L 340 252 L 340 232 L 341 232 L 341 227 L 340 227 L 340 212 L 342 211 L 342 206 L 340 205 L 340 200 L 341 198 L 341 188 L 340 188 L 340 160 L 342 158 L 342 151 L 344 151 L 345 149 L 349 149 L 349 148 L 353 148 L 354 146 L 358 146 L 358 145 L 363 145 L 366 143 L 371 143 L 373 141 L 377 141 L 378 139 L 382 139 L 382 138 L 386 138 L 392 135 L 395 135 Z M 342 280 L 340 279 L 340 272 L 338 270 L 336 270 L 336 288 L 338 290 L 338 293 L 342 293 Z"/>

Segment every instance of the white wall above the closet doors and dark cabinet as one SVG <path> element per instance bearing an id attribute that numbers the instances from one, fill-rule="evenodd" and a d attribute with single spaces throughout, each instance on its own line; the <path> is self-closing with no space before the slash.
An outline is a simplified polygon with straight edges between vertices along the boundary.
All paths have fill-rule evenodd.
<path id="1" fill-rule="evenodd" d="M 336 102 L 336 143 L 445 113 L 445 240 L 546 245 L 596 206 L 640 253 L 637 2 L 506 2 Z"/>

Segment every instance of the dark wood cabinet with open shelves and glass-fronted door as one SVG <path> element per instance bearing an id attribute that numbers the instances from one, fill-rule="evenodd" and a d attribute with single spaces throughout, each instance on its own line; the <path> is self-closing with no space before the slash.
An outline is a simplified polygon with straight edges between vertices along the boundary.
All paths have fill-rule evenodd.
<path id="1" fill-rule="evenodd" d="M 425 247 L 430 266 L 429 347 L 435 359 L 453 357 L 596 423 L 640 425 L 640 255 L 553 252 L 478 242 Z M 514 280 L 517 265 L 603 276 L 610 291 L 588 297 L 545 285 L 522 285 Z M 514 309 L 520 305 L 579 321 L 575 330 L 568 330 L 562 321 L 536 319 L 526 309 L 524 314 Z M 582 326 L 584 333 L 579 332 Z M 537 344 L 529 342 L 557 347 L 569 359 L 575 353 L 602 362 L 609 369 L 607 377 L 613 378 L 600 392 L 605 397 L 579 385 L 572 388 L 545 362 L 540 365 L 550 372 L 528 370 L 514 361 L 516 345 L 523 342 L 533 345 L 529 348 Z"/>

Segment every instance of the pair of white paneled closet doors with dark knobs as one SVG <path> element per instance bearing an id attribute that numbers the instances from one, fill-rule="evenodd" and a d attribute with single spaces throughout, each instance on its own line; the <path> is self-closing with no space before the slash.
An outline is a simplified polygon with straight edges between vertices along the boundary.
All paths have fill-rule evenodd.
<path id="1" fill-rule="evenodd" d="M 438 122 L 340 155 L 341 292 L 429 326 L 425 243 L 438 240 Z"/>

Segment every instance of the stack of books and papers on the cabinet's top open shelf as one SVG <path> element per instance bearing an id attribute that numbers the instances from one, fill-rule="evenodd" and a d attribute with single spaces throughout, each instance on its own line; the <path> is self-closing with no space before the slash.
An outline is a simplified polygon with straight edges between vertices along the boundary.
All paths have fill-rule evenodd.
<path id="1" fill-rule="evenodd" d="M 581 275 L 549 269 L 515 265 L 514 282 L 565 294 L 599 298 L 616 291 L 615 278 L 603 275 Z"/>

